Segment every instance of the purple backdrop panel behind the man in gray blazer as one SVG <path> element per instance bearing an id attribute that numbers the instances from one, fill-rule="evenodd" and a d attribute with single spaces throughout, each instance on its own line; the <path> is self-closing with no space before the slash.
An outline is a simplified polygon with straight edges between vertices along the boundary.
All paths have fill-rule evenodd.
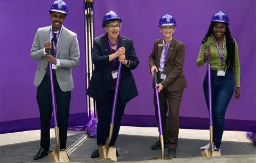
<path id="1" fill-rule="evenodd" d="M 39 129 L 34 76 L 37 62 L 29 51 L 40 27 L 51 25 L 53 0 L 1 1 L 0 133 Z M 64 26 L 78 35 L 80 65 L 73 68 L 69 125 L 87 124 L 84 0 L 66 0 L 69 7 Z M 11 9 L 10 9 L 11 8 Z M 41 9 L 40 9 L 41 8 Z"/>

